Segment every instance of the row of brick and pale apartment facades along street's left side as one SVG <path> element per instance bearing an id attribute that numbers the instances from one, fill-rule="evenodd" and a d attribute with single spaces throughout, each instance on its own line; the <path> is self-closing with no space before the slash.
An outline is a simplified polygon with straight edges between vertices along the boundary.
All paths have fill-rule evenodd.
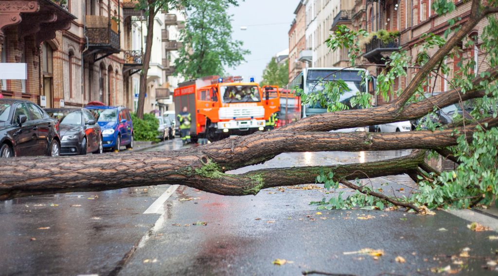
<path id="1" fill-rule="evenodd" d="M 146 36 L 144 11 L 135 8 L 136 0 L 13 2 L 0 0 L 0 62 L 26 63 L 27 79 L 0 80 L 5 98 L 47 108 L 101 102 L 136 109 Z M 184 26 L 183 13 L 173 12 L 178 15 L 159 13 L 154 21 L 145 112 L 172 104 L 172 90 L 166 88 L 174 59 L 165 64 L 164 58 L 181 43 L 171 43 L 163 32 L 178 36 L 178 26 Z"/>

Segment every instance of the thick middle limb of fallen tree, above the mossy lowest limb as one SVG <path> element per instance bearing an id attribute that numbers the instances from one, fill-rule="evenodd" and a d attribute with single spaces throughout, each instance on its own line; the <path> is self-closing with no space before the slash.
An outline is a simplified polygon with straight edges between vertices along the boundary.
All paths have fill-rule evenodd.
<path id="1" fill-rule="evenodd" d="M 488 128 L 498 125 L 498 119 L 488 119 Z M 476 125 L 468 126 L 467 138 L 472 138 Z M 222 167 L 223 171 L 263 162 L 283 152 L 305 151 L 364 151 L 394 149 L 432 149 L 457 144 L 455 129 L 403 133 L 320 133 L 267 132 L 233 137 L 201 147 L 200 150 Z M 464 133 L 464 128 L 458 128 Z"/>

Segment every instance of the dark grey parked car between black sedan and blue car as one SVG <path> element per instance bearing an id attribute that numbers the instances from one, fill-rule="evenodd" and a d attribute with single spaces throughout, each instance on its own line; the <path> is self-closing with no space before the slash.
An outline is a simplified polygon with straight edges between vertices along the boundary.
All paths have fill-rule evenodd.
<path id="1" fill-rule="evenodd" d="M 60 122 L 61 155 L 102 153 L 102 130 L 93 114 L 85 108 L 45 109 Z"/>

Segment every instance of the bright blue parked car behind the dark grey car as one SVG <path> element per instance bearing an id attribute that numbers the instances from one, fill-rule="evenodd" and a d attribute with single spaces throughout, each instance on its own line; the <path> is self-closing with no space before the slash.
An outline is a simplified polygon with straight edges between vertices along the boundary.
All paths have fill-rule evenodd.
<path id="1" fill-rule="evenodd" d="M 133 122 L 125 107 L 86 106 L 102 128 L 104 148 L 120 151 L 121 146 L 133 148 Z"/>

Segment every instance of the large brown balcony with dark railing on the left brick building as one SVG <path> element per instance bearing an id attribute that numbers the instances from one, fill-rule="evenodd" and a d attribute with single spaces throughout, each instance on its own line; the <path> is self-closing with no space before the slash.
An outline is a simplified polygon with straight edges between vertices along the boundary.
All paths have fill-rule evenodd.
<path id="1" fill-rule="evenodd" d="M 87 15 L 89 53 L 113 54 L 120 52 L 118 23 L 108 16 Z"/>

